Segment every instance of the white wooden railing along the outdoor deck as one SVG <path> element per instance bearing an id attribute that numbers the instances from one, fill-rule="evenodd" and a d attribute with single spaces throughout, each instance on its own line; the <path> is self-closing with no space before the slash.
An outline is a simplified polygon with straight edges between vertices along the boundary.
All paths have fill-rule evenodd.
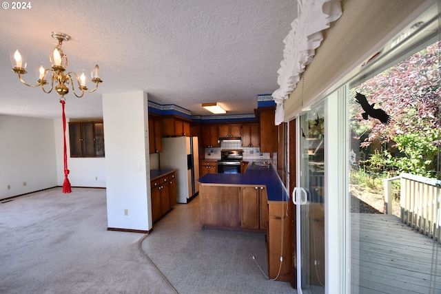
<path id="1" fill-rule="evenodd" d="M 401 221 L 441 242 L 441 180 L 400 174 L 384 180 L 384 213 L 392 213 L 392 181 L 400 179 Z"/>

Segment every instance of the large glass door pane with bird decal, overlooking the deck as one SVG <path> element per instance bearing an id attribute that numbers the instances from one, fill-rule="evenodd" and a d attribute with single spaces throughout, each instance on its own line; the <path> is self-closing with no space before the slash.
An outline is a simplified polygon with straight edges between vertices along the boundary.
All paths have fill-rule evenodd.
<path id="1" fill-rule="evenodd" d="M 440 45 L 349 90 L 353 293 L 440 290 Z"/>

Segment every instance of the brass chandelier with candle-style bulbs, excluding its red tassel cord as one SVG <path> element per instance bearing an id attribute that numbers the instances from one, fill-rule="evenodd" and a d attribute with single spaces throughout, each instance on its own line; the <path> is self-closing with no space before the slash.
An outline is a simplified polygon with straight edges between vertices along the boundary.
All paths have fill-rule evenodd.
<path id="1" fill-rule="evenodd" d="M 88 90 L 86 87 L 86 83 L 88 83 L 88 78 L 86 78 L 85 73 L 83 72 L 80 76 L 78 76 L 74 72 L 66 72 L 66 68 L 68 67 L 68 56 L 63 54 L 63 50 L 61 50 L 61 45 L 63 41 L 69 41 L 70 36 L 68 34 L 64 34 L 63 32 L 52 32 L 52 38 L 58 40 L 58 44 L 55 46 L 54 51 L 50 55 L 50 63 L 52 67 L 44 68 L 43 65 L 39 68 L 39 79 L 36 85 L 30 85 L 23 81 L 21 77 L 26 73 L 26 65 L 25 59 L 21 56 L 19 50 L 15 50 L 15 52 L 11 56 L 12 62 L 12 71 L 19 75 L 19 79 L 21 83 L 29 86 L 29 87 L 41 87 L 43 92 L 50 93 L 52 90 L 57 91 L 58 94 L 61 95 L 61 98 L 64 98 L 65 94 L 68 94 L 69 87 L 72 88 L 72 92 L 78 98 L 83 97 L 85 92 L 92 93 L 98 88 L 98 84 L 103 82 L 101 78 L 99 78 L 99 66 L 95 65 L 94 70 L 92 71 L 92 82 L 95 83 L 95 87 L 92 90 Z M 46 86 L 50 83 L 50 86 Z M 55 86 L 54 86 L 55 84 Z"/>

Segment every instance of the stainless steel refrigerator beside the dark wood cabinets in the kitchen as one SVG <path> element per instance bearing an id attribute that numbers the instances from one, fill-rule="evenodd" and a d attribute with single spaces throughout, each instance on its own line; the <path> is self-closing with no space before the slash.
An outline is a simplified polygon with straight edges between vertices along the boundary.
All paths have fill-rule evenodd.
<path id="1" fill-rule="evenodd" d="M 188 203 L 199 191 L 198 137 L 163 138 L 161 169 L 176 169 L 176 200 Z"/>

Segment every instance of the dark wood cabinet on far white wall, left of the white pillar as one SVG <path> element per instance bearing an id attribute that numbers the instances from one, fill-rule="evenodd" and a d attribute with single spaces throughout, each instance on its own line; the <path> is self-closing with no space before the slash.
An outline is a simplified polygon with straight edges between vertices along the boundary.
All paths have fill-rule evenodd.
<path id="1" fill-rule="evenodd" d="M 70 157 L 104 157 L 102 122 L 69 123 Z"/>

